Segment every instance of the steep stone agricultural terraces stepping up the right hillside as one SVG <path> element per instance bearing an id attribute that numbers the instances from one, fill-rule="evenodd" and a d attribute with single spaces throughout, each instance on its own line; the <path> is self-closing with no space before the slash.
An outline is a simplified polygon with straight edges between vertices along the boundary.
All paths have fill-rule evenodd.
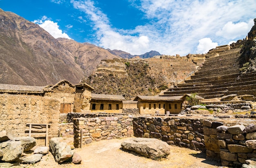
<path id="1" fill-rule="evenodd" d="M 219 98 L 229 94 L 252 94 L 256 96 L 256 72 L 241 74 L 240 48 L 219 52 L 218 57 L 206 59 L 203 66 L 190 80 L 177 84 L 160 96 L 198 94 L 205 99 Z"/>

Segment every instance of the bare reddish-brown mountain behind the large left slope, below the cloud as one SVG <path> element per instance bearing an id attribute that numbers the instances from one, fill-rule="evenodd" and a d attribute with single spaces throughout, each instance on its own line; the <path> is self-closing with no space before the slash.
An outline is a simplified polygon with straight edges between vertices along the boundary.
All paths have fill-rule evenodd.
<path id="1" fill-rule="evenodd" d="M 83 69 L 84 75 L 89 76 L 102 59 L 120 58 L 104 48 L 90 43 L 79 43 L 72 39 L 57 39 L 73 55 L 76 63 Z"/>

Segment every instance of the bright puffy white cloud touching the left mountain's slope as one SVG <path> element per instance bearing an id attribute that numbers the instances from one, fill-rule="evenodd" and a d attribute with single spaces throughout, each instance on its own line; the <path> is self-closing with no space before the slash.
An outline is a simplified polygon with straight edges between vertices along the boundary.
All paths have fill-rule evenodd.
<path id="1" fill-rule="evenodd" d="M 47 16 L 43 16 L 40 20 L 34 20 L 33 22 L 38 24 L 41 28 L 45 29 L 50 35 L 54 38 L 63 37 L 71 39 L 66 33 L 62 33 L 62 30 L 59 29 L 58 23 L 55 23 L 51 20 L 47 20 Z"/>

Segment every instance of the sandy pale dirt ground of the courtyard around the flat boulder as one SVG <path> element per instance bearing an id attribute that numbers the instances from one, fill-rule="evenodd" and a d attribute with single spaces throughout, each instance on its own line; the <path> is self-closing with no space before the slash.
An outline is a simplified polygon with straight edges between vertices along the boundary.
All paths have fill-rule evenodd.
<path id="1" fill-rule="evenodd" d="M 82 157 L 82 163 L 58 164 L 49 153 L 36 164 L 27 165 L 29 168 L 219 168 L 220 163 L 206 160 L 205 154 L 188 148 L 171 146 L 171 154 L 156 161 L 141 157 L 133 152 L 121 149 L 121 142 L 126 138 L 102 140 L 85 144 L 74 151 Z M 222 167 L 224 168 L 224 167 Z"/>

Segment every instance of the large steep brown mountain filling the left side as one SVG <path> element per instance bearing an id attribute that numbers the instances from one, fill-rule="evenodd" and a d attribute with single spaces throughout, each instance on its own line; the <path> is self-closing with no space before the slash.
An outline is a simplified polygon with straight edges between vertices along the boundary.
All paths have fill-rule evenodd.
<path id="1" fill-rule="evenodd" d="M 83 70 L 65 46 L 37 24 L 0 9 L 0 83 L 79 83 Z"/>

